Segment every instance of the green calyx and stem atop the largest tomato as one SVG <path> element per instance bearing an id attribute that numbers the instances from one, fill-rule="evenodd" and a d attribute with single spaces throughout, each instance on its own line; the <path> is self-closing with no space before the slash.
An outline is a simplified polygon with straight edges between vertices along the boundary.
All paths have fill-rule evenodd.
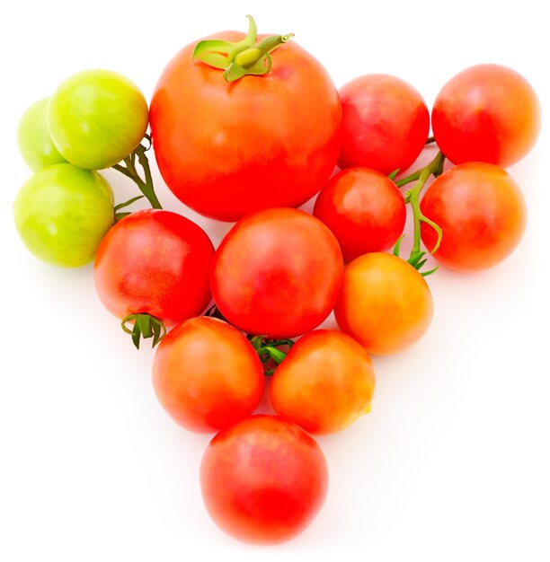
<path id="1" fill-rule="evenodd" d="M 224 40 L 199 41 L 193 50 L 192 59 L 208 66 L 224 70 L 226 82 L 235 82 L 246 75 L 266 75 L 271 71 L 271 55 L 279 45 L 294 36 L 271 35 L 256 43 L 258 30 L 253 16 L 248 15 L 248 33 L 242 41 L 233 43 Z"/>

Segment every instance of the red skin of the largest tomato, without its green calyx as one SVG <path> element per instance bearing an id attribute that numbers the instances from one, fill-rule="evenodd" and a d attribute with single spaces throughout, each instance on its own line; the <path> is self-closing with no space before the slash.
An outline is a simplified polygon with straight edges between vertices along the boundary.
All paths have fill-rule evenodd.
<path id="1" fill-rule="evenodd" d="M 155 156 L 168 187 L 223 221 L 305 203 L 340 150 L 342 108 L 324 67 L 292 40 L 271 53 L 269 74 L 226 83 L 223 71 L 191 61 L 194 46 L 173 57 L 151 101 Z"/>

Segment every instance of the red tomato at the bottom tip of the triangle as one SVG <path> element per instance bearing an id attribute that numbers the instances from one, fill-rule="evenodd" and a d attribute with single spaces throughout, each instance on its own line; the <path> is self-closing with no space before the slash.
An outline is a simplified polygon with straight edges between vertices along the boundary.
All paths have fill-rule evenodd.
<path id="1" fill-rule="evenodd" d="M 238 540 L 274 544 L 304 531 L 324 504 L 328 470 L 300 427 L 253 416 L 217 434 L 200 465 L 208 514 Z"/>

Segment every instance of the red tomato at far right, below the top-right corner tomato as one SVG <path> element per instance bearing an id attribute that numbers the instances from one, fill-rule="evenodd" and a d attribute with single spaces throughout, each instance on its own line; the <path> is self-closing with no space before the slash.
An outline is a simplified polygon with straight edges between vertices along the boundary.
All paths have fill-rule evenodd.
<path id="1" fill-rule="evenodd" d="M 493 164 L 466 162 L 446 171 L 427 189 L 421 211 L 443 232 L 434 258 L 448 268 L 491 268 L 519 244 L 527 222 L 525 199 L 510 175 Z M 432 250 L 437 234 L 421 224 Z"/>

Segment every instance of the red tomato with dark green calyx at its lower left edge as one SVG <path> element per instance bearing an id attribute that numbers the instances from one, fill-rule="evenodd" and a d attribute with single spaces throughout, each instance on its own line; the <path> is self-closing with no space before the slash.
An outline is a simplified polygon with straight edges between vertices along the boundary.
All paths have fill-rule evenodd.
<path id="1" fill-rule="evenodd" d="M 184 216 L 137 211 L 103 238 L 95 257 L 95 288 L 119 318 L 144 312 L 176 324 L 198 316 L 208 304 L 213 253 L 208 235 Z"/>

